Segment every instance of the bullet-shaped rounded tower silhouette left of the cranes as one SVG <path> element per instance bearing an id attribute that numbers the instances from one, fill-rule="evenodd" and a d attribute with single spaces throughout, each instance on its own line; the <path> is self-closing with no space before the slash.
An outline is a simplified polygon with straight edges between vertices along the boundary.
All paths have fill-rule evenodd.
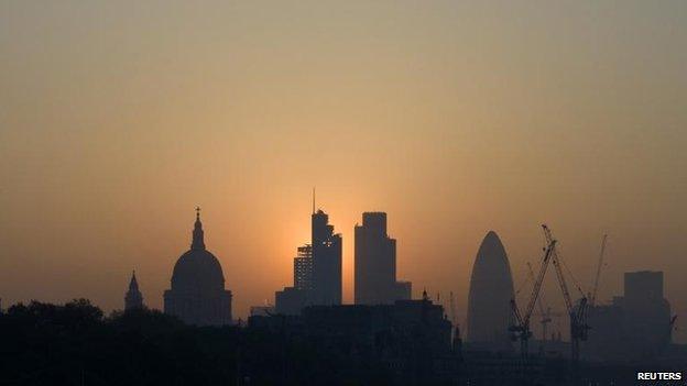
<path id="1" fill-rule="evenodd" d="M 505 249 L 490 231 L 477 252 L 468 296 L 468 337 L 471 348 L 510 349 L 513 278 Z"/>

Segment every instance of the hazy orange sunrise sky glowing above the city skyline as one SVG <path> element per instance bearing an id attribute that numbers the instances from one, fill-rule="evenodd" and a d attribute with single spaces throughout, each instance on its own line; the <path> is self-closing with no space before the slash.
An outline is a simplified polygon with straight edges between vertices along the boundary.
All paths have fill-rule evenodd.
<path id="1" fill-rule="evenodd" d="M 316 186 L 347 302 L 363 211 L 459 321 L 486 233 L 520 288 L 545 222 L 585 291 L 609 234 L 604 301 L 664 271 L 687 341 L 685 47 L 681 0 L 0 0 L 2 306 L 122 308 L 135 269 L 161 308 L 200 206 L 246 318 L 292 284 Z"/>

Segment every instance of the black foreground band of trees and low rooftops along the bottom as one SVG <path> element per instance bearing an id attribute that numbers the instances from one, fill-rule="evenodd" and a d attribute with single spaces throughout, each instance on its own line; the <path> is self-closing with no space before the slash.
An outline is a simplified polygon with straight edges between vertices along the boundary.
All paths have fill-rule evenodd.
<path id="1" fill-rule="evenodd" d="M 576 377 L 560 357 L 525 368 L 444 344 L 445 326 L 318 324 L 330 312 L 194 328 L 144 309 L 105 317 L 87 300 L 17 305 L 0 315 L 0 385 L 644 385 L 636 372 L 658 370 L 582 364 Z"/>

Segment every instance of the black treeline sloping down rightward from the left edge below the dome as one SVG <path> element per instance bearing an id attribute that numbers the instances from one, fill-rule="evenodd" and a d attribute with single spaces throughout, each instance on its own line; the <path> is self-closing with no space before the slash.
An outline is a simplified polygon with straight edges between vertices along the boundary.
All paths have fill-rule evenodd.
<path id="1" fill-rule="evenodd" d="M 317 342 L 261 329 L 195 328 L 155 310 L 105 316 L 88 300 L 0 315 L 0 385 L 386 384 Z"/>

